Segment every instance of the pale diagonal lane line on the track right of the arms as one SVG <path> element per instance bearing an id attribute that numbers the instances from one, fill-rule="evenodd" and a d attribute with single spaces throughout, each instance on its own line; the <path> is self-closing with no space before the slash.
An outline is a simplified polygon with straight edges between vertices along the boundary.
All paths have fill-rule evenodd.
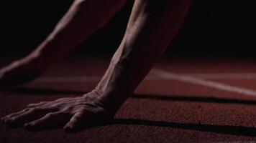
<path id="1" fill-rule="evenodd" d="M 229 84 L 222 84 L 219 82 L 211 82 L 211 81 L 207 81 L 205 79 L 200 79 L 198 77 L 186 76 L 183 74 L 170 73 L 168 71 L 164 71 L 161 69 L 152 69 L 152 70 L 157 72 L 158 76 L 164 77 L 166 79 L 173 79 L 173 80 L 178 80 L 181 82 L 202 85 L 204 87 L 220 89 L 220 90 L 227 91 L 227 92 L 234 92 L 234 93 L 238 93 L 238 94 L 245 94 L 245 95 L 250 95 L 250 96 L 256 97 L 256 91 L 252 90 L 252 89 L 234 87 Z"/>

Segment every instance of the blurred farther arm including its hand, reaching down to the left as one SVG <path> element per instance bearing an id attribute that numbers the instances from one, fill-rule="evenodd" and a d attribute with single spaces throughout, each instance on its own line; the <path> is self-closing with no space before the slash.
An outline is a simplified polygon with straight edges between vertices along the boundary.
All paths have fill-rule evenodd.
<path id="1" fill-rule="evenodd" d="M 0 86 L 29 82 L 104 26 L 126 0 L 74 0 L 35 51 L 0 70 Z"/>

